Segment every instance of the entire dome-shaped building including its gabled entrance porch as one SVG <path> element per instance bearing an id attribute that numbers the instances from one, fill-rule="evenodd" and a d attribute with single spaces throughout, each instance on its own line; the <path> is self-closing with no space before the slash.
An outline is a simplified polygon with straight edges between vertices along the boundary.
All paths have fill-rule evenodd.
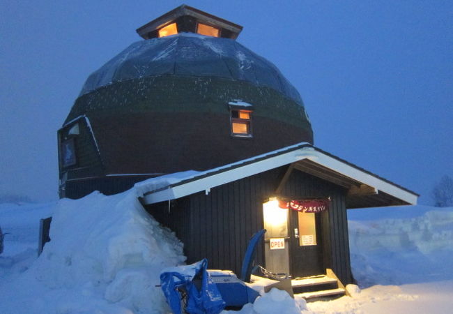
<path id="1" fill-rule="evenodd" d="M 137 29 L 144 40 L 90 75 L 59 130 L 60 196 L 170 174 L 136 192 L 184 243 L 187 263 L 208 258 L 247 281 L 247 241 L 267 230 L 256 264 L 307 299 L 345 294 L 347 209 L 418 195 L 314 147 L 298 92 L 236 42 L 241 29 L 188 6 Z"/>

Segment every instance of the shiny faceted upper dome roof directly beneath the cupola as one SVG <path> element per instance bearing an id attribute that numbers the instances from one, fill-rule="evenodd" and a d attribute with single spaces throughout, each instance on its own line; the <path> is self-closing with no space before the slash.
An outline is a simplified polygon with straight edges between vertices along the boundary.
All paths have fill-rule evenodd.
<path id="1" fill-rule="evenodd" d="M 154 75 L 223 77 L 279 91 L 299 105 L 298 91 L 270 61 L 229 38 L 179 33 L 133 43 L 86 80 L 79 96 L 114 82 Z"/>

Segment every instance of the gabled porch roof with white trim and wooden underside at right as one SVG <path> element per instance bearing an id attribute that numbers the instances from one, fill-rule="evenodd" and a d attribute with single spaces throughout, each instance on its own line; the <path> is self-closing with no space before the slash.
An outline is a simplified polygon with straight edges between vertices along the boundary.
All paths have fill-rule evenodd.
<path id="1" fill-rule="evenodd" d="M 291 171 L 298 170 L 312 174 L 345 188 L 348 209 L 416 204 L 419 196 L 407 188 L 378 177 L 312 144 L 301 142 L 204 172 L 186 172 L 187 175 L 176 176 L 176 179 L 168 175 L 166 177 L 171 178 L 168 181 L 160 177 L 144 181 L 139 184 L 144 194 L 142 201 L 144 204 L 153 204 L 175 200 L 203 190 L 209 193 L 210 188 L 215 186 L 284 165 L 289 167 L 280 186 L 284 185 L 285 177 L 289 177 Z M 153 183 L 156 179 L 160 184 Z M 275 195 L 270 196 L 278 196 L 278 189 Z"/>

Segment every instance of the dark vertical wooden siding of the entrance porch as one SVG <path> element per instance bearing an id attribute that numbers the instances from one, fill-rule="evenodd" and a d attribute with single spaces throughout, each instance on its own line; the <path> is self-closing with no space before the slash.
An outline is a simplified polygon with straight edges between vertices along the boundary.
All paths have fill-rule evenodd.
<path id="1" fill-rule="evenodd" d="M 146 209 L 176 232 L 185 244 L 187 263 L 207 257 L 211 269 L 231 269 L 240 274 L 249 238 L 263 228 L 263 201 L 275 196 L 275 188 L 286 167 L 211 188 L 172 202 L 148 205 Z M 351 283 L 348 230 L 343 188 L 293 171 L 281 196 L 331 197 L 332 206 L 321 215 L 324 267 L 332 268 L 340 280 Z M 257 251 L 264 265 L 263 246 Z"/>

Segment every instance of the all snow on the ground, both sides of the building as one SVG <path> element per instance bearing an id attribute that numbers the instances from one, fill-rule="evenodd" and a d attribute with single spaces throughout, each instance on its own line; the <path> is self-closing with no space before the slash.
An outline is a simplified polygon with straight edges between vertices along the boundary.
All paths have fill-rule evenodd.
<path id="1" fill-rule="evenodd" d="M 40 218 L 53 216 L 37 258 Z M 305 304 L 271 290 L 242 313 L 452 313 L 453 208 L 348 212 L 353 297 Z M 0 313 L 168 313 L 158 285 L 182 244 L 131 191 L 0 204 Z"/>

